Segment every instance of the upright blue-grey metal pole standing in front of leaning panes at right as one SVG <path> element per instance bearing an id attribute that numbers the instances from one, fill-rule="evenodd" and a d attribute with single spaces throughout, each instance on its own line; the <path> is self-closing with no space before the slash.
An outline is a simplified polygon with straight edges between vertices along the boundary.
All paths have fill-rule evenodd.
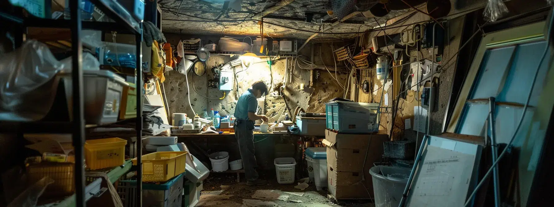
<path id="1" fill-rule="evenodd" d="M 493 161 L 495 161 L 498 157 L 496 154 L 498 151 L 498 146 L 496 145 L 496 132 L 494 128 L 494 112 L 495 112 L 495 98 L 490 97 L 489 98 L 489 126 L 490 126 L 490 146 L 493 156 Z M 498 181 L 498 165 L 495 165 L 493 168 L 493 183 L 494 183 L 494 206 L 499 207 L 500 206 L 500 186 Z"/>

